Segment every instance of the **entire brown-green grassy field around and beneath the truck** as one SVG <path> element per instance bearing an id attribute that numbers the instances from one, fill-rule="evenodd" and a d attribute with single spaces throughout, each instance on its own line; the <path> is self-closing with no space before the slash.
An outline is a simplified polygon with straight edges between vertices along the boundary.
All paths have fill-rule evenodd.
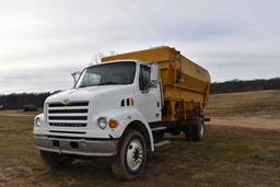
<path id="1" fill-rule="evenodd" d="M 49 171 L 33 147 L 34 116 L 0 113 L 0 186 L 280 186 L 280 91 L 211 95 L 202 142 L 184 136 L 149 157 L 142 176 L 121 182 L 109 161 Z M 10 113 L 11 114 L 11 113 Z M 19 114 L 19 113 L 13 113 Z"/>

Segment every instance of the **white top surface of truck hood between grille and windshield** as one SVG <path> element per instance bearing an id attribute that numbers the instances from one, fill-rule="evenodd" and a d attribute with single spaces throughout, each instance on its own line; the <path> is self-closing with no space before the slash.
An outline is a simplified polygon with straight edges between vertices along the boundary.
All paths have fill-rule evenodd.
<path id="1" fill-rule="evenodd" d="M 57 103 L 65 100 L 69 100 L 70 102 L 92 101 L 93 97 L 97 95 L 103 95 L 108 92 L 118 92 L 118 90 L 126 90 L 128 87 L 131 87 L 131 85 L 100 85 L 91 87 L 71 89 L 57 93 L 55 95 L 50 95 L 46 100 L 46 103 Z"/>

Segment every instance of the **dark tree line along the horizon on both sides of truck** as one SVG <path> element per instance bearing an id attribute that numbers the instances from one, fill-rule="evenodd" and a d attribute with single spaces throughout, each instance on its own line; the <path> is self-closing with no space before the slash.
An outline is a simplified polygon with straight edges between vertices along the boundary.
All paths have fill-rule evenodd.
<path id="1" fill-rule="evenodd" d="M 248 92 L 262 90 L 280 90 L 280 78 L 269 80 L 250 80 L 241 81 L 232 80 L 226 82 L 211 83 L 210 93 L 232 93 L 232 92 Z M 22 109 L 24 105 L 35 105 L 43 107 L 45 100 L 51 93 L 13 93 L 0 95 L 0 109 Z"/>

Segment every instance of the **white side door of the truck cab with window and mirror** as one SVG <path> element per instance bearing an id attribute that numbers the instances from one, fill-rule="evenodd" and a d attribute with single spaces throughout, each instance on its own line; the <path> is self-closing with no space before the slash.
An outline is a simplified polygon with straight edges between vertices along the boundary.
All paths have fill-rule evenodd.
<path id="1" fill-rule="evenodd" d="M 152 70 L 155 69 L 151 68 L 151 66 L 142 63 L 140 65 L 138 86 L 136 92 L 137 107 L 139 112 L 145 117 L 148 122 L 162 120 L 161 87 L 159 79 L 158 81 L 151 81 L 151 75 L 154 75 L 152 73 L 155 73 Z"/>

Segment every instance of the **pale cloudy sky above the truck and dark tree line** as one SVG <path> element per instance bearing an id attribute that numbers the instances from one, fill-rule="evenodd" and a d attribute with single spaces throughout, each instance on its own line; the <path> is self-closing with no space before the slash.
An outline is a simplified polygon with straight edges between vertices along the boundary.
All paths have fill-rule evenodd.
<path id="1" fill-rule="evenodd" d="M 155 46 L 212 82 L 280 77 L 280 1 L 0 0 L 0 94 L 70 89 L 96 55 Z"/>

